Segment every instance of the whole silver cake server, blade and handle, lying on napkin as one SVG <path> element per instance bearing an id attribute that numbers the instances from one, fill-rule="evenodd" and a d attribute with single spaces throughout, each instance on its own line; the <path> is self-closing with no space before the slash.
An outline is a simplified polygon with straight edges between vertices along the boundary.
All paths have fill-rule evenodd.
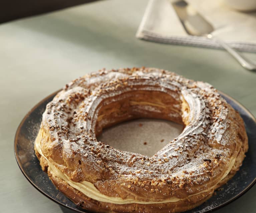
<path id="1" fill-rule="evenodd" d="M 171 0 L 171 4 L 175 9 L 179 19 L 189 35 L 206 36 L 218 42 L 225 50 L 227 50 L 245 69 L 256 70 L 256 65 L 243 58 L 237 51 L 231 48 L 221 39 L 213 36 L 213 26 L 200 15 L 192 6 L 184 0 Z"/>

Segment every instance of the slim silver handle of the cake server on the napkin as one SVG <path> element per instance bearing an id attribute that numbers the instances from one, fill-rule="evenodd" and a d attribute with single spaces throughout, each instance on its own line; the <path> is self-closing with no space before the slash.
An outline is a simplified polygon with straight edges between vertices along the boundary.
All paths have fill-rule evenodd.
<path id="1" fill-rule="evenodd" d="M 209 37 L 208 37 L 209 38 Z M 223 40 L 212 37 L 216 42 L 218 42 L 225 50 L 227 50 L 245 69 L 248 70 L 256 70 L 256 65 L 250 63 L 246 59 L 244 59 L 237 51 L 231 48 L 227 43 Z"/>

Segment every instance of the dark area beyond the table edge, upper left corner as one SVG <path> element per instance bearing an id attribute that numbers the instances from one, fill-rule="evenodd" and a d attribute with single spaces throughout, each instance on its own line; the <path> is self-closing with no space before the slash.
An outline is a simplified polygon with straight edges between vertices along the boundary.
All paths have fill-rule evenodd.
<path id="1" fill-rule="evenodd" d="M 0 23 L 96 0 L 1 0 Z"/>

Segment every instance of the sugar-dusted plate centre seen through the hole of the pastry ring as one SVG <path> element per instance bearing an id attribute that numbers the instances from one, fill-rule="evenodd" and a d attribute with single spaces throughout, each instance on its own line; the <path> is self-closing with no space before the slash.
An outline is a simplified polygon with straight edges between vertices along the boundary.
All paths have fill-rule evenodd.
<path id="1" fill-rule="evenodd" d="M 172 121 L 141 118 L 105 128 L 97 139 L 122 151 L 153 156 L 182 130 L 183 125 Z"/>

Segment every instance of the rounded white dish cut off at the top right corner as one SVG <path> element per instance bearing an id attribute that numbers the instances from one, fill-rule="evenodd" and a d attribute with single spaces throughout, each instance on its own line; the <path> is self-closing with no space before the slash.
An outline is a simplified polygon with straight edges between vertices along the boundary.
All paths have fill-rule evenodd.
<path id="1" fill-rule="evenodd" d="M 229 7 L 239 11 L 256 10 L 256 0 L 223 0 Z"/>

